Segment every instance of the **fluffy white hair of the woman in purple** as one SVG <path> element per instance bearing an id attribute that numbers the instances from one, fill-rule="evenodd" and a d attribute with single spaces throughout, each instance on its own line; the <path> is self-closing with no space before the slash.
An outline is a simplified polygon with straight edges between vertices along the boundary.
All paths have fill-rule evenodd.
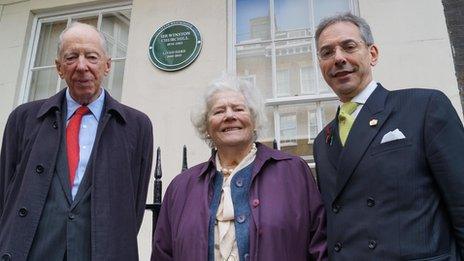
<path id="1" fill-rule="evenodd" d="M 211 148 L 214 147 L 213 141 L 208 135 L 208 116 L 213 106 L 213 96 L 218 92 L 234 91 L 241 93 L 245 97 L 245 104 L 250 110 L 251 120 L 255 125 L 255 140 L 258 132 L 265 121 L 264 103 L 258 88 L 252 86 L 249 81 L 238 79 L 236 76 L 223 74 L 219 79 L 214 80 L 206 89 L 203 95 L 201 106 L 192 112 L 191 121 L 198 135 Z"/>

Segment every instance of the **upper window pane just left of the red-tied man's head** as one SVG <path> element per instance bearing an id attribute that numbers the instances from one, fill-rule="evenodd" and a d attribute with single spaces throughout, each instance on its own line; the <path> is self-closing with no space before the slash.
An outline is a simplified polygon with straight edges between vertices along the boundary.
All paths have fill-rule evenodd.
<path id="1" fill-rule="evenodd" d="M 60 33 L 66 28 L 66 20 L 43 23 L 34 67 L 54 65 Z"/>

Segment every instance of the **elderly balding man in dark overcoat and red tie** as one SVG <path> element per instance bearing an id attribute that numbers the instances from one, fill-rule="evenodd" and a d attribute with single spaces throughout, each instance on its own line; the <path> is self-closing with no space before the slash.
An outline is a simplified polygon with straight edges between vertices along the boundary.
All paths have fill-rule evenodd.
<path id="1" fill-rule="evenodd" d="M 149 118 L 103 90 L 96 28 L 60 35 L 67 88 L 8 119 L 0 156 L 1 260 L 137 260 L 153 154 Z"/>

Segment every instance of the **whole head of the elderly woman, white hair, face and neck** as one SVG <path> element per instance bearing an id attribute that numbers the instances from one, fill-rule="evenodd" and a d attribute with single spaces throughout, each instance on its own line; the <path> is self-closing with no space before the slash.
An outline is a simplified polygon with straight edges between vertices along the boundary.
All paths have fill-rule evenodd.
<path id="1" fill-rule="evenodd" d="M 200 138 L 217 150 L 223 174 L 230 174 L 258 138 L 263 99 L 248 81 L 224 74 L 208 86 L 191 119 Z"/>

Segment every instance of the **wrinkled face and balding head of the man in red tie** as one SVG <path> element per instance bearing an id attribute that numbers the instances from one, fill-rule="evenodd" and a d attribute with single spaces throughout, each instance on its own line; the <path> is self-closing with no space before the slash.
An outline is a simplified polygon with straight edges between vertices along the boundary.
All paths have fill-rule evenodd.
<path id="1" fill-rule="evenodd" d="M 85 105 L 100 95 L 100 86 L 110 71 L 111 59 L 103 50 L 98 32 L 75 26 L 63 35 L 61 52 L 55 64 L 73 99 Z"/>

